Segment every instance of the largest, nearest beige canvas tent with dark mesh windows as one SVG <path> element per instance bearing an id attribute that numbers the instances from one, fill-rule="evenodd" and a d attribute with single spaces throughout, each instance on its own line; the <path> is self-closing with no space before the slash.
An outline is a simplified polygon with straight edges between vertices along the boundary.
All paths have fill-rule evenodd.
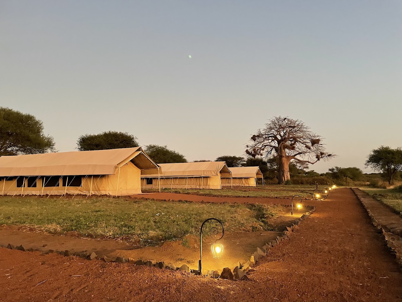
<path id="1" fill-rule="evenodd" d="M 141 193 L 141 174 L 160 167 L 142 147 L 0 157 L 2 194 Z"/>

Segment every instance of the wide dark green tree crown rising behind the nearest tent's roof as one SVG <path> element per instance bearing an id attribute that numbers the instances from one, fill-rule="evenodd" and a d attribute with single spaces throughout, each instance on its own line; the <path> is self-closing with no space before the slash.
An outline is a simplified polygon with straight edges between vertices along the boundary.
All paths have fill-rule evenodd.
<path id="1" fill-rule="evenodd" d="M 83 134 L 78 137 L 79 151 L 107 150 L 138 147 L 137 138 L 128 132 L 105 131 L 99 134 Z"/>

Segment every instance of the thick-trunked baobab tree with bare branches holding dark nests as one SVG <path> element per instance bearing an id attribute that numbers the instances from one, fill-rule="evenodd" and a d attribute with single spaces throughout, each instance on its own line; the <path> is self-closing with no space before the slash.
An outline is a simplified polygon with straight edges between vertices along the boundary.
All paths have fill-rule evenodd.
<path id="1" fill-rule="evenodd" d="M 325 151 L 321 141 L 322 137 L 310 131 L 303 121 L 275 116 L 251 137 L 246 154 L 254 158 L 276 158 L 278 182 L 284 184 L 290 180 L 289 163 L 292 160 L 314 165 L 334 156 Z"/>

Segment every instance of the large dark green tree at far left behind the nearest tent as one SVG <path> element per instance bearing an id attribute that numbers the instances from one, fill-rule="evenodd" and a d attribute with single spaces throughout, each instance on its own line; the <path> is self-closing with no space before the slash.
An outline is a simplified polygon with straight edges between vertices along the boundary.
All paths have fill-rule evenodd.
<path id="1" fill-rule="evenodd" d="M 0 156 L 56 152 L 53 137 L 32 114 L 0 107 Z"/>

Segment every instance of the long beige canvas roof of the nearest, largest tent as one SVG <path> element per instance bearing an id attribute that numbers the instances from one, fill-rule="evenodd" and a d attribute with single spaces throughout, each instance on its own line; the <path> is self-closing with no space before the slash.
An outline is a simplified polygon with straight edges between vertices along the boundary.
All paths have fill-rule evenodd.
<path id="1" fill-rule="evenodd" d="M 142 147 L 0 157 L 0 176 L 108 175 L 131 161 L 146 173 L 158 165 Z"/>

